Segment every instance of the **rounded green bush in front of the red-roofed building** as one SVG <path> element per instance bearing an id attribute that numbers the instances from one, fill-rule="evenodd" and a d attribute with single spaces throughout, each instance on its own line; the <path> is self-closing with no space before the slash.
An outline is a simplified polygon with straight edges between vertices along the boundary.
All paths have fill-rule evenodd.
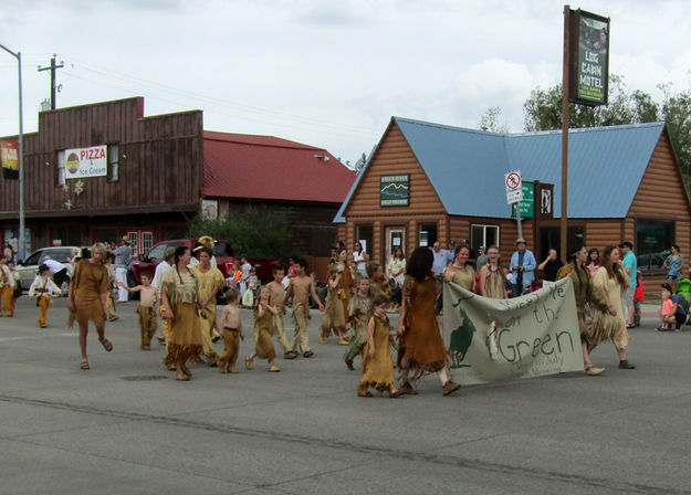
<path id="1" fill-rule="evenodd" d="M 218 220 L 196 217 L 190 222 L 191 238 L 211 235 L 232 243 L 235 254 L 249 256 L 285 257 L 285 246 L 291 244 L 292 233 L 289 220 L 265 207 L 248 207 L 233 211 Z"/>

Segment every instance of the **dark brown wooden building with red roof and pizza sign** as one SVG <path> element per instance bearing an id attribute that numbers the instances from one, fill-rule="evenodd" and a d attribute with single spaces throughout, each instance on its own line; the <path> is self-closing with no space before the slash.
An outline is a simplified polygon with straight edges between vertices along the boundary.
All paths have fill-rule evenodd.
<path id="1" fill-rule="evenodd" d="M 326 256 L 355 177 L 322 148 L 205 131 L 201 110 L 145 117 L 142 97 L 42 112 L 24 134 L 27 250 L 128 235 L 142 254 L 186 236 L 202 208 L 264 204 L 292 215 L 297 253 Z M 19 182 L 0 179 L 3 246 L 18 239 L 18 218 Z"/>

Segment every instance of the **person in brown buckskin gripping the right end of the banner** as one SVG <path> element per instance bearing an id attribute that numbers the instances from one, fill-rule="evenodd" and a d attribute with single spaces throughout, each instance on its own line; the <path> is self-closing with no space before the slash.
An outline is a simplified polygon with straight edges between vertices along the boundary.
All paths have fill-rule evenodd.
<path id="1" fill-rule="evenodd" d="M 568 276 L 574 283 L 584 372 L 588 376 L 597 376 L 605 371 L 605 368 L 596 367 L 590 360 L 590 352 L 588 352 L 589 334 L 586 326 L 586 304 L 589 305 L 590 308 L 605 308 L 605 302 L 599 291 L 597 291 L 593 284 L 590 271 L 586 266 L 587 261 L 588 252 L 585 247 L 574 251 L 570 255 L 569 263 L 557 272 L 556 280 L 558 281 Z"/>

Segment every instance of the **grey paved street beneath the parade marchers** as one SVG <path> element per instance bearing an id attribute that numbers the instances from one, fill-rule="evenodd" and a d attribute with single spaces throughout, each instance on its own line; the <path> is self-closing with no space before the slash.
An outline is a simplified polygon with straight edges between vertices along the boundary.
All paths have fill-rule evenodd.
<path id="1" fill-rule="evenodd" d="M 691 493 L 691 331 L 652 331 L 652 306 L 631 331 L 636 370 L 617 369 L 605 345 L 594 352 L 601 377 L 447 398 L 428 377 L 396 400 L 356 397 L 359 369 L 346 370 L 334 338 L 320 344 L 316 310 L 313 358 L 279 358 L 280 373 L 264 361 L 234 376 L 196 366 L 178 382 L 163 347 L 139 350 L 135 307 L 118 305 L 106 327 L 113 352 L 90 335 L 90 371 L 64 299 L 43 330 L 25 296 L 0 318 L 0 493 Z M 249 310 L 243 323 L 241 356 Z"/>

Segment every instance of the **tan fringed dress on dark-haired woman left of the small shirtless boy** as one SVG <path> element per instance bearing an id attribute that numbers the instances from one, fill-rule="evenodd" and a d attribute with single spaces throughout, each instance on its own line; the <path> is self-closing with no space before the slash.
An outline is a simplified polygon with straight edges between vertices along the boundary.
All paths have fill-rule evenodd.
<path id="1" fill-rule="evenodd" d="M 197 312 L 197 278 L 190 272 L 179 273 L 174 266 L 164 275 L 161 286 L 174 315 L 168 355 L 164 362 L 170 367 L 178 360 L 198 360 L 201 354 L 201 325 Z"/>

